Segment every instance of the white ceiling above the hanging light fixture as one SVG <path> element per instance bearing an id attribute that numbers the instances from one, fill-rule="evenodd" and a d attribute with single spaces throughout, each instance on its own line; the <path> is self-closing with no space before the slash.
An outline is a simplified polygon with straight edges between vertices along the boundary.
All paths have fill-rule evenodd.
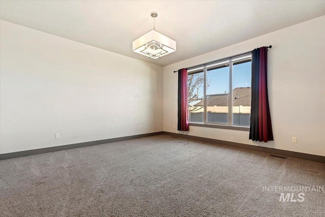
<path id="1" fill-rule="evenodd" d="M 159 59 L 132 51 L 153 27 L 177 42 Z M 325 1 L 1 1 L 1 19 L 159 66 L 325 15 Z M 253 48 L 252 48 L 253 49 Z"/>

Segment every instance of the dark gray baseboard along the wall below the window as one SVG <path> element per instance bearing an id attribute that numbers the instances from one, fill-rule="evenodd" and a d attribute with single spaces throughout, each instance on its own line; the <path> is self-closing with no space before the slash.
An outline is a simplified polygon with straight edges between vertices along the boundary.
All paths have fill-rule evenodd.
<path id="1" fill-rule="evenodd" d="M 175 137 L 199 140 L 199 141 L 203 141 L 203 142 L 211 142 L 211 143 L 216 143 L 216 144 L 220 144 L 220 145 L 228 145 L 228 146 L 237 147 L 237 148 L 244 148 L 244 149 L 248 149 L 248 150 L 262 151 L 262 152 L 267 152 L 267 153 L 271 153 L 271 154 L 277 154 L 279 156 L 287 156 L 287 157 L 300 158 L 300 159 L 325 163 L 325 157 L 314 155 L 314 154 L 300 153 L 300 152 L 295 152 L 295 151 L 287 151 L 287 150 L 281 150 L 281 149 L 276 149 L 276 148 L 255 146 L 255 145 L 247 145 L 247 144 L 242 144 L 242 143 L 228 142 L 228 141 L 217 140 L 217 139 L 209 139 L 209 138 L 198 137 L 198 136 L 189 136 L 189 135 L 170 133 L 170 132 L 165 132 L 165 131 L 164 131 L 164 134 L 170 135 L 170 136 L 175 136 Z"/>

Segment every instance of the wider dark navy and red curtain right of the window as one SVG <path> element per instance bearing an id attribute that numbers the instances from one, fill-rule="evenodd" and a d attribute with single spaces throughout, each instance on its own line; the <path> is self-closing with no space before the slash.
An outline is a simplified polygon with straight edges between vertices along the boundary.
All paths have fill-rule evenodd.
<path id="1" fill-rule="evenodd" d="M 268 48 L 252 51 L 252 97 L 249 139 L 268 142 L 273 140 L 268 98 Z"/>

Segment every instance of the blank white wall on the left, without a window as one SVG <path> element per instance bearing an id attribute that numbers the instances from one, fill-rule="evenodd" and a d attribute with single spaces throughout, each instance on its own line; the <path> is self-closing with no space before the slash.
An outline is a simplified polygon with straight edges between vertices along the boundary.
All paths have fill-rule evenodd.
<path id="1" fill-rule="evenodd" d="M 163 67 L 0 24 L 0 153 L 163 130 Z"/>

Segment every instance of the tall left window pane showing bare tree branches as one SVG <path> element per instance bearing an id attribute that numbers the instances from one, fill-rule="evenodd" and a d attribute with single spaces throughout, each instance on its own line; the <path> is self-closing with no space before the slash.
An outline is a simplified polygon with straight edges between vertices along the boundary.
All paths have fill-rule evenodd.
<path id="1" fill-rule="evenodd" d="M 189 122 L 203 122 L 203 115 L 204 115 L 203 88 L 204 88 L 203 71 L 187 76 L 188 121 Z"/>

